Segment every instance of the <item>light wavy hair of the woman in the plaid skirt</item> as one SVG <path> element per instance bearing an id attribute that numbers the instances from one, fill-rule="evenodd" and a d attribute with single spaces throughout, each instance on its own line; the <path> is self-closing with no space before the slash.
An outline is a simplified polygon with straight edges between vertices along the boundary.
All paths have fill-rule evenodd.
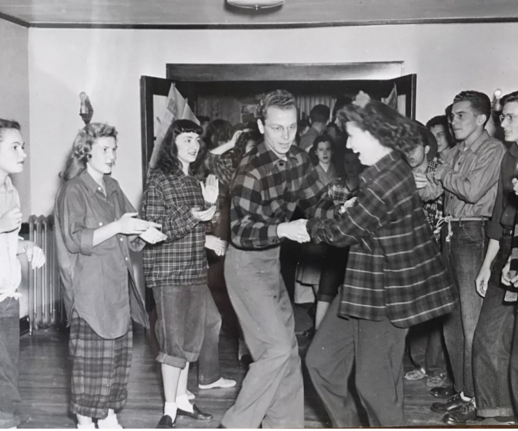
<path id="1" fill-rule="evenodd" d="M 68 153 L 65 170 L 60 174 L 61 178 L 68 181 L 87 169 L 87 162 L 92 158 L 92 145 L 100 137 L 112 137 L 117 141 L 117 130 L 106 123 L 90 123 L 78 132 Z"/>

